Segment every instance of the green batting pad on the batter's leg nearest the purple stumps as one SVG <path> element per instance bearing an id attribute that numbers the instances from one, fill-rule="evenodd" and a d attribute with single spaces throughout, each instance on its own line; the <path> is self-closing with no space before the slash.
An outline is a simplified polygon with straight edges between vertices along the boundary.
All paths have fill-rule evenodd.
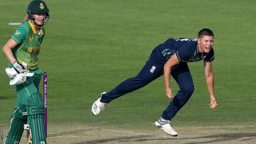
<path id="1" fill-rule="evenodd" d="M 44 106 L 40 93 L 34 93 L 28 98 L 27 117 L 30 123 L 32 144 L 46 144 L 46 135 L 43 123 Z"/>

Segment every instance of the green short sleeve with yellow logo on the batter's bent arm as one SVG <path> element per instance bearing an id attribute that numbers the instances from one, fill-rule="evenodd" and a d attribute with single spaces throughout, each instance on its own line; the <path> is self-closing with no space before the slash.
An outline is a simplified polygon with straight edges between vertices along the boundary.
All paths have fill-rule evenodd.
<path id="1" fill-rule="evenodd" d="M 18 27 L 15 33 L 11 37 L 16 43 L 21 44 L 27 38 L 27 28 Z"/>

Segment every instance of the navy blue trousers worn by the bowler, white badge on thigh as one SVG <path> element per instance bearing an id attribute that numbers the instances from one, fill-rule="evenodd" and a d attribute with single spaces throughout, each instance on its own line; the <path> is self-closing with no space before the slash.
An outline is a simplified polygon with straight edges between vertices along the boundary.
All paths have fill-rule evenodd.
<path id="1" fill-rule="evenodd" d="M 115 98 L 146 86 L 164 74 L 164 65 L 166 61 L 167 60 L 162 56 L 160 51 L 155 48 L 139 74 L 134 78 L 128 78 L 112 91 L 103 94 L 101 102 L 109 103 Z M 194 91 L 194 84 L 187 63 L 181 62 L 180 64 L 173 66 L 171 68 L 171 75 L 178 83 L 180 90 L 162 113 L 162 118 L 166 120 L 171 120 L 171 118 L 175 116 L 178 110 L 187 103 Z"/>

